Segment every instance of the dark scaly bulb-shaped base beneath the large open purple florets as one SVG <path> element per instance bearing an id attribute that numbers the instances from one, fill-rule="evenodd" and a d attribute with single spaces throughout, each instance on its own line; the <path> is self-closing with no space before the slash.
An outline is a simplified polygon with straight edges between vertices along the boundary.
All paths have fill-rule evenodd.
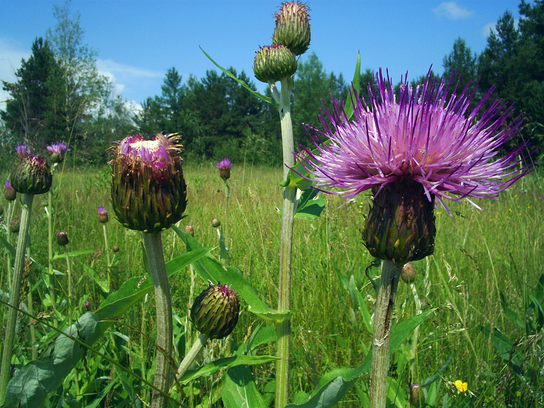
<path id="1" fill-rule="evenodd" d="M 435 200 L 419 183 L 404 180 L 386 184 L 374 200 L 362 230 L 370 255 L 393 261 L 398 268 L 434 251 Z"/>

